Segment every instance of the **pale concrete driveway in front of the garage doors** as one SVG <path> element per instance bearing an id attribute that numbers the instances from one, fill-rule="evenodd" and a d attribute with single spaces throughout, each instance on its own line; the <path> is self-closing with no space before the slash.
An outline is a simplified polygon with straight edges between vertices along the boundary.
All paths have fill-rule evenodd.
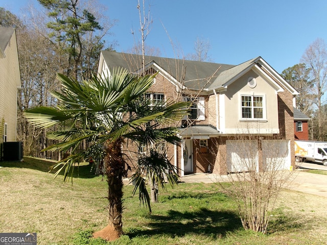
<path id="1" fill-rule="evenodd" d="M 327 170 L 327 167 L 312 164 L 314 163 L 302 163 L 300 168 L 294 170 L 294 175 L 286 188 L 327 198 L 327 175 L 311 174 L 303 171 L 305 168 Z M 180 180 L 185 183 L 214 183 L 228 181 L 228 177 L 214 174 L 194 174 L 181 177 Z"/>

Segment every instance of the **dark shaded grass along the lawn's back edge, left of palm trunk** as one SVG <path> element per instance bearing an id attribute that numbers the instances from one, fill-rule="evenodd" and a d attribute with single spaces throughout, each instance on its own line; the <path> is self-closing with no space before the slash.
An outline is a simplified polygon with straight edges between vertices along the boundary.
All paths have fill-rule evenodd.
<path id="1" fill-rule="evenodd" d="M 35 169 L 39 170 L 42 172 L 49 172 L 51 167 L 55 165 L 55 161 L 49 161 L 49 160 L 41 160 L 41 159 L 36 159 L 32 157 L 24 157 L 23 161 L 4 161 L 0 162 L 0 166 L 2 167 L 20 167 L 20 168 L 29 168 L 29 169 Z M 59 168 L 57 168 L 59 169 Z M 50 173 L 54 174 L 56 173 L 55 171 L 51 171 Z M 60 172 L 59 175 L 64 174 L 64 169 Z M 70 174 L 69 174 L 70 175 Z M 83 164 L 78 166 L 74 166 L 74 171 L 73 171 L 73 177 L 74 178 L 84 178 L 84 179 L 89 179 L 89 178 L 94 178 L 96 177 L 95 174 L 95 168 L 92 166 L 92 164 Z"/>

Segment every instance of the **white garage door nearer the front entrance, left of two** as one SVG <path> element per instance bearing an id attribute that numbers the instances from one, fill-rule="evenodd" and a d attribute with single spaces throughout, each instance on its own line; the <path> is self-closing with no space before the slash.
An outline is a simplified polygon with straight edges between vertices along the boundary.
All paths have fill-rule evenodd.
<path id="1" fill-rule="evenodd" d="M 258 144 L 255 140 L 226 141 L 229 172 L 258 171 Z"/>

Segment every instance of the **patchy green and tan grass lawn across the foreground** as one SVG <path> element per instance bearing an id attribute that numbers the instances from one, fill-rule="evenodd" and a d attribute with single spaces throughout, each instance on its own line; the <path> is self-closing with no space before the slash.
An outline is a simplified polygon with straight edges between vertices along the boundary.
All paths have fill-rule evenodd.
<path id="1" fill-rule="evenodd" d="M 91 238 L 107 225 L 107 183 L 80 166 L 73 185 L 53 180 L 53 162 L 0 162 L 0 232 L 37 232 L 38 244 L 326 244 L 326 199 L 285 190 L 268 234 L 242 228 L 236 203 L 216 184 L 181 183 L 160 191 L 150 215 L 124 187 L 124 235 Z M 78 173 L 78 174 L 77 174 Z M 319 234 L 319 235 L 317 235 Z"/>

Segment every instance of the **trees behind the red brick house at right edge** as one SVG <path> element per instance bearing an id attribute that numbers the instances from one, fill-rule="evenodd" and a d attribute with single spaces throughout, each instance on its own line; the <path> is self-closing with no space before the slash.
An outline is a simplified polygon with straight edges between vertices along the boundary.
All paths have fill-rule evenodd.
<path id="1" fill-rule="evenodd" d="M 299 64 L 282 72 L 282 77 L 299 94 L 296 108 L 311 118 L 309 139 L 327 141 L 327 46 L 323 39 L 313 41 Z"/>

